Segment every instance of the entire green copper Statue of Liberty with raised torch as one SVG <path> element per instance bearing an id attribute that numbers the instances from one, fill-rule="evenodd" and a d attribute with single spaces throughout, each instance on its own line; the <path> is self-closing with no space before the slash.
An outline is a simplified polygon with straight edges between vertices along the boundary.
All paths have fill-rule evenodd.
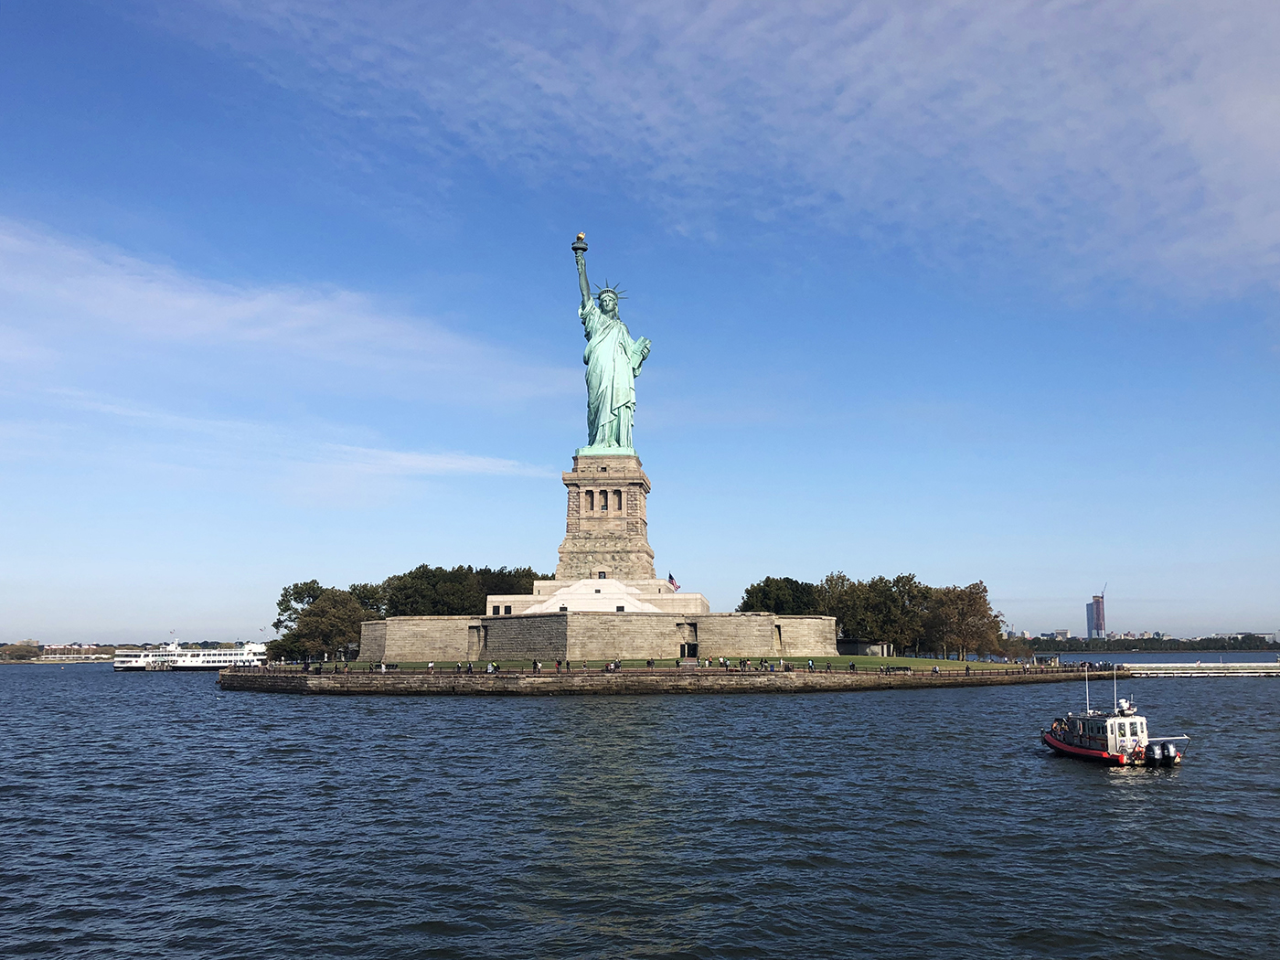
<path id="1" fill-rule="evenodd" d="M 627 325 L 618 319 L 621 291 L 608 285 L 591 297 L 591 284 L 586 280 L 586 236 L 580 233 L 573 242 L 577 260 L 577 285 L 582 291 L 582 303 L 577 315 L 586 334 L 586 434 L 588 445 L 579 454 L 612 453 L 635 454 L 631 447 L 631 428 L 636 413 L 636 378 L 649 356 L 649 339 L 631 339 Z M 599 301 L 599 303 L 596 303 Z"/>

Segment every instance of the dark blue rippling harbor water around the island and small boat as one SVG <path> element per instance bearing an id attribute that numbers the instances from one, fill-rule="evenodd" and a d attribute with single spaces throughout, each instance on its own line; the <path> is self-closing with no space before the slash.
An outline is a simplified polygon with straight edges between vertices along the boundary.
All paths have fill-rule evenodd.
<path id="1" fill-rule="evenodd" d="M 1117 662 L 1123 657 L 1114 655 Z M 1111 701 L 1110 680 L 1091 690 Z M 56 957 L 1272 957 L 1280 681 L 305 698 L 0 668 L 0 942 Z"/>

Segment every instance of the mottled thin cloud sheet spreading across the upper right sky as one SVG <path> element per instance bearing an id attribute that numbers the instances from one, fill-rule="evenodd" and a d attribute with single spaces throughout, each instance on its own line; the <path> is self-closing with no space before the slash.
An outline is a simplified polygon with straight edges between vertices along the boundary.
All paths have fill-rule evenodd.
<path id="1" fill-rule="evenodd" d="M 1277 275 L 1275 4 L 207 3 L 189 31 L 387 136 L 604 163 L 677 227 L 804 211 L 960 264 Z"/>

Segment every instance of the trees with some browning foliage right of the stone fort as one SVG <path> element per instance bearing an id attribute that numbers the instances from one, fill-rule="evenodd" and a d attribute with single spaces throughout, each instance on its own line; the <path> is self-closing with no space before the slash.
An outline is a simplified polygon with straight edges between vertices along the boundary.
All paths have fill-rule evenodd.
<path id="1" fill-rule="evenodd" d="M 1001 634 L 1004 614 L 991 608 L 980 580 L 968 586 L 929 586 L 914 573 L 851 580 L 838 571 L 817 584 L 764 577 L 746 588 L 737 609 L 835 617 L 841 637 L 891 643 L 908 655 L 954 653 L 964 659 L 970 653 L 1027 653 L 1023 641 Z"/>

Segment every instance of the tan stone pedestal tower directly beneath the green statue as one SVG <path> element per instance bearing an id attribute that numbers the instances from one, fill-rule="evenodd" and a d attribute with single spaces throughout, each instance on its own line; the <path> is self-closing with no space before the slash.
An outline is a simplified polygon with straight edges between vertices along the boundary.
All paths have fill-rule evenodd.
<path id="1" fill-rule="evenodd" d="M 649 477 L 640 458 L 580 454 L 573 457 L 573 470 L 561 476 L 568 490 L 568 516 L 557 582 L 657 580 L 645 508 Z"/>

